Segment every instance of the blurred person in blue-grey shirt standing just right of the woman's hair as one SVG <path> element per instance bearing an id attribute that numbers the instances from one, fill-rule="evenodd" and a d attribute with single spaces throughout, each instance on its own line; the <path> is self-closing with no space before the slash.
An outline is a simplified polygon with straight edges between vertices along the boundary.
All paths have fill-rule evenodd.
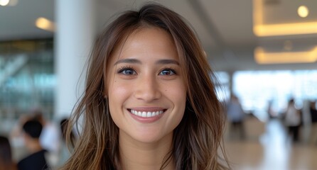
<path id="1" fill-rule="evenodd" d="M 239 98 L 231 94 L 230 101 L 227 103 L 227 118 L 230 123 L 229 135 L 238 135 L 240 140 L 245 139 L 245 111 L 243 111 Z"/>

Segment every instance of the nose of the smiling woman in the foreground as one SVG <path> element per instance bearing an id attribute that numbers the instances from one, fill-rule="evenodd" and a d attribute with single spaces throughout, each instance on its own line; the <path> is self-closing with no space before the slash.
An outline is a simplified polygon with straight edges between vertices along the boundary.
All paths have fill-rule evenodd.
<path id="1" fill-rule="evenodd" d="M 159 82 L 155 76 L 144 75 L 139 77 L 136 83 L 136 91 L 134 91 L 135 98 L 146 102 L 157 100 L 161 97 L 159 90 Z"/>

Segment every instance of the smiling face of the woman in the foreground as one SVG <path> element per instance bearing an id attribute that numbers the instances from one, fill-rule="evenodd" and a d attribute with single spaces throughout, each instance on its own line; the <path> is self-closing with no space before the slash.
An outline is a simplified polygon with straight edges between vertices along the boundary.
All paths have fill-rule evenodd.
<path id="1" fill-rule="evenodd" d="M 171 35 L 142 28 L 114 50 L 107 64 L 109 111 L 122 138 L 171 139 L 186 106 L 186 86 Z"/>

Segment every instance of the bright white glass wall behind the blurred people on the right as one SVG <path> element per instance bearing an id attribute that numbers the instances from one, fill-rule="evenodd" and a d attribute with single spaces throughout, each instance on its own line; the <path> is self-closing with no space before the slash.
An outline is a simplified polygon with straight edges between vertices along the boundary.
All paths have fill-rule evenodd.
<path id="1" fill-rule="evenodd" d="M 296 106 L 317 98 L 317 70 L 243 71 L 232 77 L 232 91 L 245 111 L 267 119 L 271 107 L 276 116 L 284 113 L 287 102 L 294 98 Z"/>

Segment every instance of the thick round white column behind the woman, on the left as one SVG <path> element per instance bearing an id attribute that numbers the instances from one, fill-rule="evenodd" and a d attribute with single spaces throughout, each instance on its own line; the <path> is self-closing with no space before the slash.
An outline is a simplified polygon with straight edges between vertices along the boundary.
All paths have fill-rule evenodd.
<path id="1" fill-rule="evenodd" d="M 54 118 L 68 117 L 85 86 L 85 62 L 96 33 L 95 0 L 56 0 Z"/>

